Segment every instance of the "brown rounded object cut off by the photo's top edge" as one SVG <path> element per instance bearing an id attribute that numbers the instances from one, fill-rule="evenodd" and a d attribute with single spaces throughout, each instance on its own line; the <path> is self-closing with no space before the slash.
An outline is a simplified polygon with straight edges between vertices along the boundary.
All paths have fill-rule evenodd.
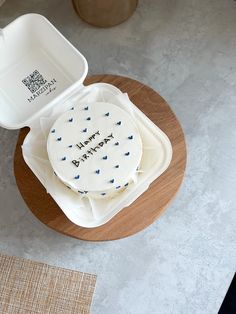
<path id="1" fill-rule="evenodd" d="M 98 27 L 111 27 L 127 20 L 138 0 L 72 0 L 78 15 Z"/>

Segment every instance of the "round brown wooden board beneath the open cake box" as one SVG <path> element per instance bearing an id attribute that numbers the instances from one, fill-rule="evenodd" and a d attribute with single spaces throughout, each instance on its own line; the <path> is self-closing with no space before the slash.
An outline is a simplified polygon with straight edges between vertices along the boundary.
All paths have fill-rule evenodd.
<path id="1" fill-rule="evenodd" d="M 21 145 L 29 129 L 20 131 L 14 156 L 14 171 L 18 188 L 32 213 L 50 228 L 88 241 L 121 239 L 143 230 L 166 209 L 177 193 L 184 176 L 186 146 L 182 128 L 166 101 L 153 89 L 130 78 L 115 75 L 94 75 L 85 84 L 110 83 L 127 92 L 139 107 L 169 137 L 173 158 L 169 168 L 132 205 L 124 208 L 105 225 L 82 228 L 63 214 L 36 176 L 25 164 Z"/>

